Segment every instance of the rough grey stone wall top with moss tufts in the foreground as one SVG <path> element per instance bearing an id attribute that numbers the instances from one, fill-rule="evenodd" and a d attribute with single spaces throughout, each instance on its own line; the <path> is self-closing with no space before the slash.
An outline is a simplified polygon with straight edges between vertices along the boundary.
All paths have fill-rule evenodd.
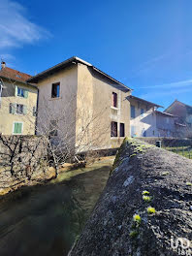
<path id="1" fill-rule="evenodd" d="M 148 213 L 148 207 L 155 212 Z M 179 238 L 184 240 L 176 247 Z M 185 249 L 180 251 L 182 242 Z M 191 256 L 191 246 L 192 161 L 125 140 L 107 186 L 69 255 Z"/>

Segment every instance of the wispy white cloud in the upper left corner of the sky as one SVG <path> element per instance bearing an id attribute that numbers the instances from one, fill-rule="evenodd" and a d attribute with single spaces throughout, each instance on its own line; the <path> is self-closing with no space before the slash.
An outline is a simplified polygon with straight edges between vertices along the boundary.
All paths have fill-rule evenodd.
<path id="1" fill-rule="evenodd" d="M 26 10 L 12 0 L 0 0 L 0 49 L 34 44 L 49 37 L 43 27 L 26 17 Z"/>

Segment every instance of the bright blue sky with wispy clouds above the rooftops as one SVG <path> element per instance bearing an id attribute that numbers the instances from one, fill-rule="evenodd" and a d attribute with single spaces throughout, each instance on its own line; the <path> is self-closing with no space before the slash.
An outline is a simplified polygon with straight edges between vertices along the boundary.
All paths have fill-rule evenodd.
<path id="1" fill-rule="evenodd" d="M 0 0 L 0 56 L 35 75 L 76 55 L 135 96 L 192 105 L 191 10 L 191 0 Z"/>

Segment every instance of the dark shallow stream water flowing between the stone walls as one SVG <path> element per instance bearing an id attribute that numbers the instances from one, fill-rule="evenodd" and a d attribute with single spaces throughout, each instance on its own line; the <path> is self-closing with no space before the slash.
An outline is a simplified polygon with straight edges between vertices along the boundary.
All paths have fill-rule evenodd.
<path id="1" fill-rule="evenodd" d="M 112 157 L 0 200 L 1 256 L 65 256 L 103 191 Z"/>

